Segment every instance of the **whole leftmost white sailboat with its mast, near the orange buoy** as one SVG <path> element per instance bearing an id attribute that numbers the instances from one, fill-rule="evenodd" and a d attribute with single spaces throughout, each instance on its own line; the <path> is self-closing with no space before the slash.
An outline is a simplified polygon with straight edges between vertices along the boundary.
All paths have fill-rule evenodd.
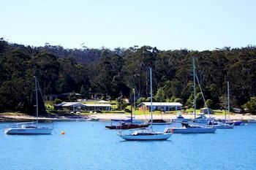
<path id="1" fill-rule="evenodd" d="M 34 77 L 36 101 L 37 101 L 37 121 L 30 123 L 17 123 L 16 125 L 6 128 L 5 134 L 51 134 L 53 128 L 41 127 L 38 123 L 38 96 L 37 96 L 37 77 Z"/>

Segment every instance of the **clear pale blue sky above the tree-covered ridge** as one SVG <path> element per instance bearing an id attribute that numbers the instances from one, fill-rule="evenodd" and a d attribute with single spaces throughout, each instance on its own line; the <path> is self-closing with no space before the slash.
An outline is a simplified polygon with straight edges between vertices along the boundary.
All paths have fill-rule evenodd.
<path id="1" fill-rule="evenodd" d="M 256 45 L 254 0 L 0 0 L 0 37 L 68 48 Z"/>

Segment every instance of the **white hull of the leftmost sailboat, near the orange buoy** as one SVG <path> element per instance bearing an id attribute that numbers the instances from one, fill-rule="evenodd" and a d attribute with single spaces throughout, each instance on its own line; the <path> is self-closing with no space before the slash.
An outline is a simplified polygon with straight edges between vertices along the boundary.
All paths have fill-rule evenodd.
<path id="1" fill-rule="evenodd" d="M 51 134 L 53 128 L 7 128 L 5 134 Z"/>

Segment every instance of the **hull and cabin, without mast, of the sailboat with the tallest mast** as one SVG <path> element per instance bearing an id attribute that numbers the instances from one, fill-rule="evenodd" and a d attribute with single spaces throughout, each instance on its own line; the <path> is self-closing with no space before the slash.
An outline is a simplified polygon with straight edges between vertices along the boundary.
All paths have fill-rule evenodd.
<path id="1" fill-rule="evenodd" d="M 181 128 L 165 128 L 166 133 L 173 134 L 206 134 L 215 133 L 216 128 L 213 125 L 189 125 L 188 123 L 181 123 Z"/>

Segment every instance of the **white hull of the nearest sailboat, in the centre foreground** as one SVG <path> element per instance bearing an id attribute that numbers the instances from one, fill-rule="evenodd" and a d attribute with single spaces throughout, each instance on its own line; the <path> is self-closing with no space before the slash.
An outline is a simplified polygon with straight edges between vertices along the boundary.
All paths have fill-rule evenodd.
<path id="1" fill-rule="evenodd" d="M 154 134 L 154 135 L 123 135 L 121 138 L 128 141 L 140 140 L 167 140 L 171 134 Z"/>

